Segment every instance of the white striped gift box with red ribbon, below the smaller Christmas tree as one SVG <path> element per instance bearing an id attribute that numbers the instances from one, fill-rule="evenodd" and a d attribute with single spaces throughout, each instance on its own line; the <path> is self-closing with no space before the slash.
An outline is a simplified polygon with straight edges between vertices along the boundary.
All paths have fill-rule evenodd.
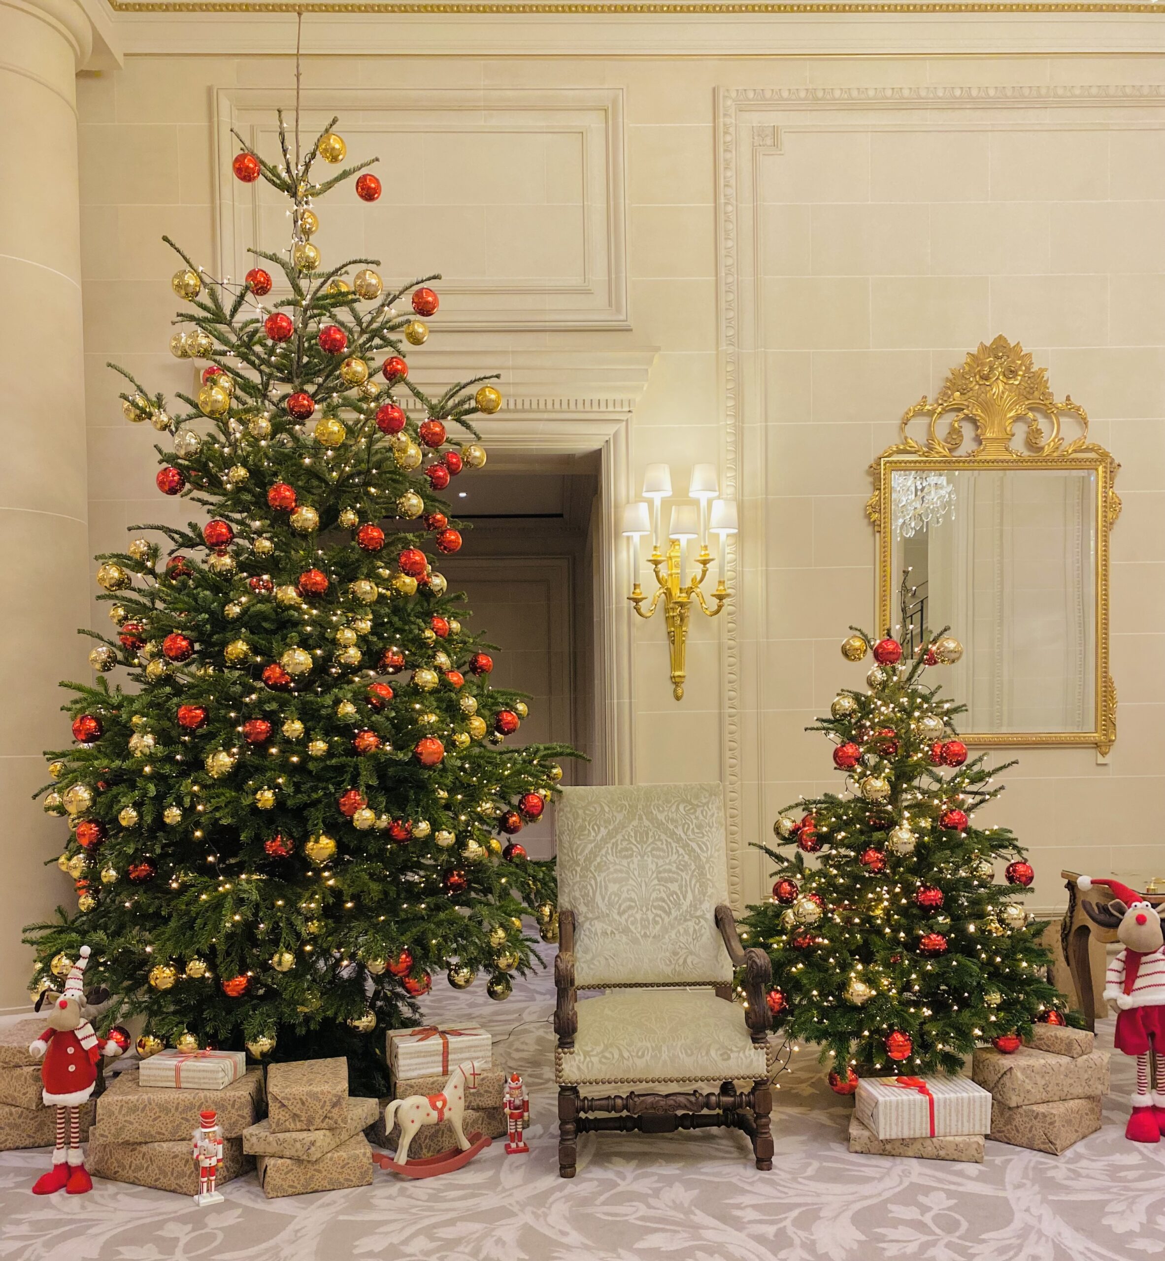
<path id="1" fill-rule="evenodd" d="M 966 1077 L 862 1077 L 854 1115 L 876 1139 L 982 1135 L 991 1096 Z"/>

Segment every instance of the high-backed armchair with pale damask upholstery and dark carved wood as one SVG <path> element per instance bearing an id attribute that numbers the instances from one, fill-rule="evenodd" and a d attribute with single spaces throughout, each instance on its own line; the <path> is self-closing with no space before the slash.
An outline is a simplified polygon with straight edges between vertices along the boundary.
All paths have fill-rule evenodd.
<path id="1" fill-rule="evenodd" d="M 555 830 L 559 1173 L 574 1178 L 580 1132 L 706 1126 L 743 1130 L 772 1169 L 770 965 L 727 907 L 722 788 L 566 788 Z M 730 1001 L 734 967 L 748 1006 Z M 576 1001 L 590 989 L 606 992 Z"/>

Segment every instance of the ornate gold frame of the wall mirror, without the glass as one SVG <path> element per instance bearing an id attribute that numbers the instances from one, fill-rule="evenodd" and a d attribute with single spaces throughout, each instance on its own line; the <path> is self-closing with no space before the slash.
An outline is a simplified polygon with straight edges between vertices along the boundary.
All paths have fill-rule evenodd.
<path id="1" fill-rule="evenodd" d="M 1070 440 L 1063 431 L 1065 420 L 1079 429 Z M 924 443 L 908 433 L 915 422 L 925 427 Z M 967 422 L 978 445 L 961 454 Z M 1025 426 L 1026 450 L 1012 446 L 1019 422 Z M 1096 745 L 1103 757 L 1116 739 L 1116 685 L 1108 672 L 1108 532 L 1121 514 L 1121 501 L 1112 488 L 1120 464 L 1103 446 L 1088 440 L 1088 416 L 1079 404 L 1067 395 L 1063 402 L 1055 401 L 1046 369 L 1035 367 L 1019 342 L 997 337 L 990 346 L 980 343 L 961 367 L 951 371 L 934 402 L 924 395 L 905 411 L 900 441 L 870 465 L 874 494 L 866 514 L 878 533 L 878 629 L 884 632 L 896 619 L 893 601 L 898 584 L 890 572 L 893 530 L 886 521 L 891 474 L 961 468 L 1096 472 L 1096 730 L 970 733 L 962 739 L 982 745 Z M 952 629 L 958 633 L 958 627 Z"/>

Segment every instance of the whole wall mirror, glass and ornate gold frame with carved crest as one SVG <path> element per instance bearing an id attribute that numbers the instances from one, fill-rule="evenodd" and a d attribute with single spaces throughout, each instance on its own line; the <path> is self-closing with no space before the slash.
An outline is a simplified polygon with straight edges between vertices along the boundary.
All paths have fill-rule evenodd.
<path id="1" fill-rule="evenodd" d="M 1088 440 L 1084 409 L 1057 402 L 1046 371 L 1004 337 L 968 354 L 933 402 L 914 404 L 900 441 L 870 465 L 878 628 L 907 651 L 944 625 L 962 641 L 944 687 L 967 706 L 968 743 L 1106 754 L 1116 739 L 1118 468 Z"/>

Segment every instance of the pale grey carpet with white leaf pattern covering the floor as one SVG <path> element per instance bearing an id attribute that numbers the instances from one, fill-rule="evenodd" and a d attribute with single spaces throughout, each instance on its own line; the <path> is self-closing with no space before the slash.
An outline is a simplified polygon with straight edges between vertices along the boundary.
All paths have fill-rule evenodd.
<path id="1" fill-rule="evenodd" d="M 472 1015 L 531 1091 L 532 1151 L 494 1144 L 465 1169 L 400 1183 L 264 1198 L 253 1175 L 208 1209 L 120 1183 L 50 1200 L 29 1187 L 47 1154 L 0 1154 L 5 1261 L 1135 1261 L 1165 1251 L 1165 1144 L 1123 1139 L 1131 1061 L 1113 1057 L 1103 1129 L 1060 1158 L 987 1144 L 983 1165 L 850 1155 L 847 1101 L 812 1052 L 782 1077 L 773 1173 L 739 1134 L 586 1135 L 557 1177 L 552 982 L 441 987 L 432 1019 Z M 504 1039 L 504 1040 L 502 1040 Z M 1101 1038 L 1111 1047 L 1112 1025 Z"/>

